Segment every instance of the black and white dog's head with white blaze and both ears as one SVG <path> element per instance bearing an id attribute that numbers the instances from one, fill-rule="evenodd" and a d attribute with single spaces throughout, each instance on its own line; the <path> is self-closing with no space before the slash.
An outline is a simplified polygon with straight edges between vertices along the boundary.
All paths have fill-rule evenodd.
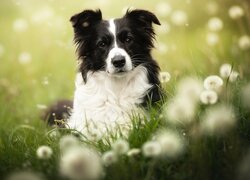
<path id="1" fill-rule="evenodd" d="M 146 10 L 128 10 L 122 18 L 111 20 L 103 20 L 100 10 L 85 10 L 70 21 L 84 80 L 88 71 L 123 76 L 147 63 L 155 35 L 152 25 L 160 25 Z"/>

